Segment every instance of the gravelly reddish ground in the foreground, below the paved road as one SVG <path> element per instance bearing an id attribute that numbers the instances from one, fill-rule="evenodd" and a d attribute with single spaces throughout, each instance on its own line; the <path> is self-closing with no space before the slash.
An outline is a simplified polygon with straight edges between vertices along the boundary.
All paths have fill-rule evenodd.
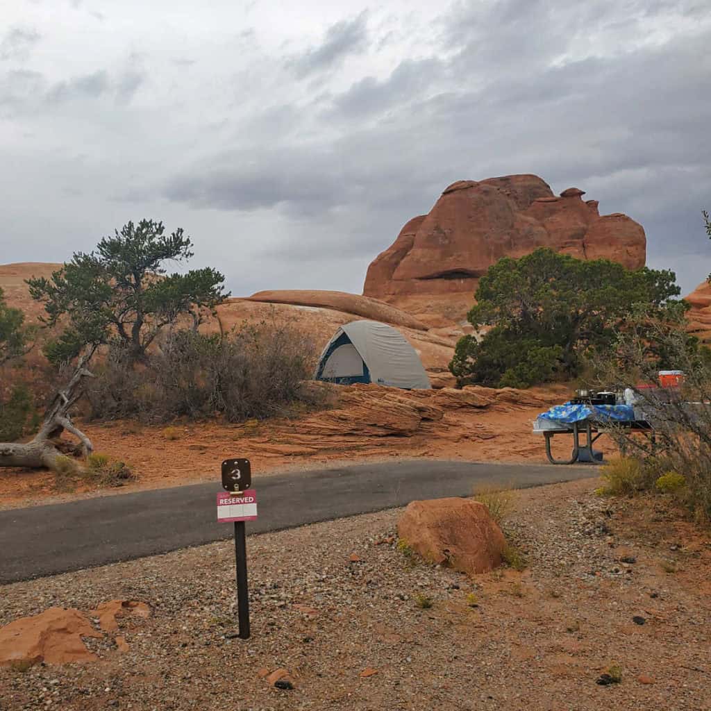
<path id="1" fill-rule="evenodd" d="M 711 710 L 709 538 L 596 483 L 520 491 L 528 567 L 474 580 L 402 555 L 395 510 L 252 537 L 248 641 L 227 542 L 6 585 L 0 624 L 119 597 L 153 615 L 119 620 L 127 652 L 87 641 L 99 663 L 0 669 L 0 710 Z"/>

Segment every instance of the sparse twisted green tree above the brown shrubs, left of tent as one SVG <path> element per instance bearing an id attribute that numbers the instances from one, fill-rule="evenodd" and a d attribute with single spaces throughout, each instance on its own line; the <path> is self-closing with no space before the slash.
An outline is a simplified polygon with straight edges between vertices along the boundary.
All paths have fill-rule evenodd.
<path id="1" fill-rule="evenodd" d="M 64 326 L 47 357 L 60 363 L 87 346 L 118 341 L 143 360 L 161 329 L 181 316 L 196 328 L 229 294 L 225 277 L 209 267 L 166 276 L 164 264 L 186 262 L 192 247 L 180 228 L 168 235 L 161 222 L 129 222 L 90 254 L 75 252 L 50 279 L 28 279 L 31 296 L 45 305 L 43 322 Z"/>

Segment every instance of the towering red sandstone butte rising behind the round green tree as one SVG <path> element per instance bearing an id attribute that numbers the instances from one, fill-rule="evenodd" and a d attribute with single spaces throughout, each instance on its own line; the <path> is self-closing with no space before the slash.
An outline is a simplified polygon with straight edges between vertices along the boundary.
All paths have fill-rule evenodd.
<path id="1" fill-rule="evenodd" d="M 568 188 L 555 197 L 538 176 L 452 183 L 427 215 L 413 218 L 370 264 L 363 293 L 429 319 L 462 319 L 476 284 L 501 257 L 550 247 L 579 259 L 642 267 L 646 238 L 626 215 L 599 215 L 597 201 Z"/>

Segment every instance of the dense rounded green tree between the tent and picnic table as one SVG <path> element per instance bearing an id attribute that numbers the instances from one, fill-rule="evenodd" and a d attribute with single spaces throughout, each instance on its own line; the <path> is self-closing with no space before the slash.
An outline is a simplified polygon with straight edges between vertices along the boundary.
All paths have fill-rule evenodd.
<path id="1" fill-rule="evenodd" d="M 460 383 L 528 387 L 574 378 L 584 356 L 614 343 L 634 304 L 663 311 L 678 304 L 675 274 L 629 271 L 609 260 L 577 260 L 540 248 L 489 267 L 468 319 L 478 341 L 464 336 L 449 367 Z"/>

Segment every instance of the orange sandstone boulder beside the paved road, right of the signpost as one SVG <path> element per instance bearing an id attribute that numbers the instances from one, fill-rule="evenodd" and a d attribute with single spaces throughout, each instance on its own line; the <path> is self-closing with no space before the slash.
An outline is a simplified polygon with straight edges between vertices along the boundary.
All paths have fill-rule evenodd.
<path id="1" fill-rule="evenodd" d="M 470 575 L 501 565 L 506 545 L 486 506 L 463 498 L 412 501 L 397 534 L 425 560 Z"/>

